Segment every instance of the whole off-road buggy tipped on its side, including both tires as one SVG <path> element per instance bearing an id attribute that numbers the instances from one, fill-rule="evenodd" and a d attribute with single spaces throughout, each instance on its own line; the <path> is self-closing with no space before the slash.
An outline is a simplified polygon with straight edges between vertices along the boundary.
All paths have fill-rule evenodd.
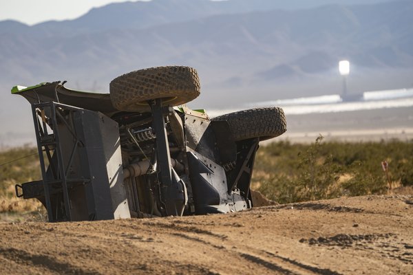
<path id="1" fill-rule="evenodd" d="M 184 103 L 200 94 L 191 67 L 115 78 L 110 94 L 65 82 L 13 87 L 32 105 L 42 180 L 16 185 L 49 221 L 235 212 L 251 208 L 260 140 L 286 131 L 282 109 L 209 119 Z"/>

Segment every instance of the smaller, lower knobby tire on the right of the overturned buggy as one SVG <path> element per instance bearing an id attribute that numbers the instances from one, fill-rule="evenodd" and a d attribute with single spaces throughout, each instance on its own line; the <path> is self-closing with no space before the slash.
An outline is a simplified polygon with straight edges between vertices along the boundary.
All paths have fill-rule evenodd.
<path id="1" fill-rule="evenodd" d="M 212 120 L 228 122 L 235 141 L 260 137 L 268 140 L 287 131 L 284 111 L 279 107 L 248 109 L 220 115 Z"/>

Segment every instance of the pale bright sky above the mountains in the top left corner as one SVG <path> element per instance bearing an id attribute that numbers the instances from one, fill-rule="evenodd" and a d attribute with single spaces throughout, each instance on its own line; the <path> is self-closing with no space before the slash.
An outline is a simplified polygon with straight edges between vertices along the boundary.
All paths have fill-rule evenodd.
<path id="1" fill-rule="evenodd" d="M 107 5 L 108 3 L 126 1 L 127 0 L 0 0 L 0 21 L 13 19 L 28 25 L 33 25 L 47 20 L 75 19 L 92 8 Z"/>

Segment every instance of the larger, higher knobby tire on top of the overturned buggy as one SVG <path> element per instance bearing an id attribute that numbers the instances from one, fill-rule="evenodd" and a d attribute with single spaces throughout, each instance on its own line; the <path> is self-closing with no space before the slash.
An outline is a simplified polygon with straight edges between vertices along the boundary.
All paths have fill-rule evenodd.
<path id="1" fill-rule="evenodd" d="M 191 67 L 153 67 L 118 76 L 109 89 L 116 109 L 150 111 L 147 100 L 162 98 L 164 105 L 177 106 L 197 98 L 200 80 Z"/>

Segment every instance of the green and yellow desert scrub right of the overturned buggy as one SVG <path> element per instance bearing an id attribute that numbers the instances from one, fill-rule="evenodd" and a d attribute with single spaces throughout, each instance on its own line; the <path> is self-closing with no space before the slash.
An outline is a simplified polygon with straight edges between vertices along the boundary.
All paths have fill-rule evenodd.
<path id="1" fill-rule="evenodd" d="M 413 141 L 275 142 L 257 154 L 253 188 L 280 203 L 383 194 L 388 189 L 383 160 L 391 181 L 413 185 Z"/>

